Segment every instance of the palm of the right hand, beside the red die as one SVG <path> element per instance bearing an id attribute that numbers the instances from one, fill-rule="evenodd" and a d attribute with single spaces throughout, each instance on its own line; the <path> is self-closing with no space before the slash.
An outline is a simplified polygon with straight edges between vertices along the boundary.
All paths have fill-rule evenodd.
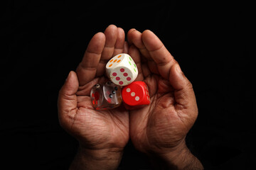
<path id="1" fill-rule="evenodd" d="M 132 142 L 142 152 L 146 152 L 144 148 L 150 147 L 176 147 L 187 132 L 186 125 L 176 111 L 174 91 L 159 86 L 170 85 L 164 79 L 157 77 L 159 80 L 156 80 L 155 77 L 144 79 L 145 82 L 151 79 L 156 82 L 148 84 L 149 89 L 157 89 L 156 94 L 151 96 L 150 105 L 139 111 L 131 111 L 130 115 Z"/>

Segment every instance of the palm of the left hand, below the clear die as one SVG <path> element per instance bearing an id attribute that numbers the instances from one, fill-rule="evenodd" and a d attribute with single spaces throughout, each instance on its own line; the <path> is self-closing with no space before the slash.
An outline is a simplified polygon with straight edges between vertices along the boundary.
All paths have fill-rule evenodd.
<path id="1" fill-rule="evenodd" d="M 78 96 L 78 101 L 72 129 L 79 133 L 82 144 L 95 147 L 93 149 L 125 146 L 129 138 L 127 111 L 122 108 L 96 111 L 91 108 L 89 96 Z"/>

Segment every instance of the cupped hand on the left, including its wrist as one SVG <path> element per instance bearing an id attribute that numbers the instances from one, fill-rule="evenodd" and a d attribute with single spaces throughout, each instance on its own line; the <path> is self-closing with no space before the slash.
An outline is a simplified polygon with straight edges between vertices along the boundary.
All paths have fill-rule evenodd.
<path id="1" fill-rule="evenodd" d="M 129 114 L 124 108 L 96 111 L 92 108 L 90 89 L 105 81 L 105 64 L 111 57 L 127 53 L 124 30 L 109 26 L 105 33 L 97 33 L 87 46 L 82 62 L 75 72 L 70 72 L 58 98 L 60 125 L 80 142 L 77 162 L 85 169 L 105 166 L 114 169 L 122 157 L 129 140 Z M 97 163 L 97 160 L 106 163 Z M 75 166 L 75 164 L 73 164 Z"/>

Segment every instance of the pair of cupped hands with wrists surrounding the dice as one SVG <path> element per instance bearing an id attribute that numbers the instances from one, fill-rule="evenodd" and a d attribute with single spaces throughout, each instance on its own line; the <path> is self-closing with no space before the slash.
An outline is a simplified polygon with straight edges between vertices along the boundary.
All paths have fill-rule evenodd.
<path id="1" fill-rule="evenodd" d="M 156 169 L 203 169 L 186 147 L 186 134 L 198 109 L 193 87 L 174 57 L 150 30 L 127 33 L 110 25 L 90 40 L 76 72 L 70 72 L 58 98 L 60 125 L 80 143 L 70 169 L 117 169 L 129 138 Z M 106 81 L 105 64 L 119 53 L 136 62 L 136 81 L 149 87 L 151 103 L 96 111 L 90 89 Z"/>

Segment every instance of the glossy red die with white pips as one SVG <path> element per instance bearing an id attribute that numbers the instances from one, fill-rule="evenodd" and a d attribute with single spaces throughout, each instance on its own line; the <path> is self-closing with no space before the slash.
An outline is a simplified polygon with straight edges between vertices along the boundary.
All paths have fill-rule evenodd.
<path id="1" fill-rule="evenodd" d="M 143 81 L 134 81 L 122 89 L 122 100 L 129 106 L 149 105 L 149 90 Z"/>

